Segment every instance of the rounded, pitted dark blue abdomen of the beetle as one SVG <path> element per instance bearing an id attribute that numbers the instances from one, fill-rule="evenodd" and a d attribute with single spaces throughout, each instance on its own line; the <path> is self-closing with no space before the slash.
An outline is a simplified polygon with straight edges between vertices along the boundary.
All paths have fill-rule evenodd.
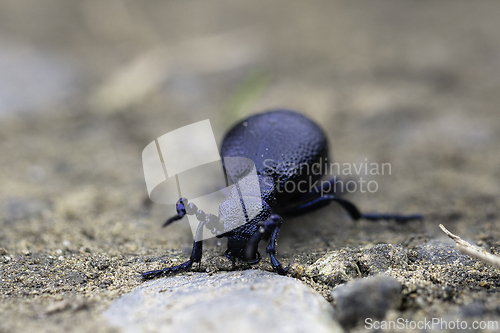
<path id="1" fill-rule="evenodd" d="M 221 155 L 254 161 L 257 173 L 272 177 L 281 188 L 288 181 L 309 176 L 318 179 L 310 169 L 314 163 L 326 163 L 328 144 L 323 130 L 312 120 L 293 111 L 275 110 L 234 126 L 222 142 Z M 225 167 L 232 181 L 241 177 L 241 168 Z"/>

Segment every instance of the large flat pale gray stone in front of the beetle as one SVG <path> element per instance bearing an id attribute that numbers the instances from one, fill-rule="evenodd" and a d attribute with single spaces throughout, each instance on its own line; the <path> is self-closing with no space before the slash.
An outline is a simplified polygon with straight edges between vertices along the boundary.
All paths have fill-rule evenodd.
<path id="1" fill-rule="evenodd" d="M 122 332 L 341 332 L 331 305 L 300 281 L 260 270 L 167 277 L 103 313 Z"/>

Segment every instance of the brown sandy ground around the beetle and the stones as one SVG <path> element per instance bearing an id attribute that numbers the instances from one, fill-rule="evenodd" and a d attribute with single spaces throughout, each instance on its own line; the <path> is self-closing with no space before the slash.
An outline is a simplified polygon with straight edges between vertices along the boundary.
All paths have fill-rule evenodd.
<path id="1" fill-rule="evenodd" d="M 354 223 L 331 205 L 287 219 L 293 275 L 342 248 L 411 256 L 448 242 L 439 223 L 498 254 L 499 14 L 496 1 L 1 2 L 0 331 L 112 331 L 110 302 L 192 244 L 187 223 L 161 229 L 175 210 L 148 198 L 144 147 L 207 118 L 220 142 L 275 107 L 317 121 L 338 163 L 391 164 L 345 176 L 378 184 L 346 198 L 425 217 Z M 195 270 L 246 267 L 224 250 L 208 241 Z M 392 316 L 499 320 L 498 270 L 454 279 L 463 269 L 424 263 L 398 273 L 409 296 Z M 331 285 L 302 279 L 328 299 Z"/>

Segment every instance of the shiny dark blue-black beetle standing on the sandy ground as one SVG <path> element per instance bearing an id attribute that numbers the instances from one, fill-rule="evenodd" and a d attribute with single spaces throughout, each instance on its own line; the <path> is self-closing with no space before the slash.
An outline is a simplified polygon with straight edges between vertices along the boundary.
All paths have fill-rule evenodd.
<path id="1" fill-rule="evenodd" d="M 169 218 L 163 226 L 182 219 L 186 214 L 196 215 L 200 223 L 191 256 L 180 265 L 143 273 L 144 280 L 186 271 L 191 269 L 193 263 L 199 263 L 203 248 L 203 240 L 199 236 L 204 228 L 217 233 L 218 238 L 228 239 L 225 255 L 233 262 L 236 259 L 248 264 L 259 262 L 262 256 L 257 251 L 258 244 L 262 239 L 269 238 L 266 254 L 270 257 L 273 269 L 278 274 L 285 275 L 287 269 L 276 258 L 276 241 L 282 225 L 282 216 L 307 213 L 336 202 L 353 220 L 422 219 L 419 214 L 362 213 L 353 203 L 331 191 L 337 182 L 336 177 L 322 181 L 320 188 L 315 187 L 305 193 L 300 191 L 301 182 L 316 183 L 323 177 L 325 172 L 318 171 L 328 160 L 328 141 L 316 123 L 295 111 L 272 110 L 240 121 L 225 135 L 221 157 L 226 179 L 236 184 L 240 184 L 242 179 L 251 179 L 247 182 L 253 182 L 253 187 L 243 188 L 243 191 L 241 184 L 239 187 L 233 187 L 231 195 L 219 206 L 219 216 L 205 214 L 188 199 L 180 198 L 176 204 L 177 214 Z M 253 161 L 257 176 L 244 178 L 242 170 L 245 170 L 246 166 L 227 163 L 228 157 Z M 287 184 L 292 185 L 288 186 L 288 190 Z M 293 190 L 289 190 L 290 187 Z M 244 217 L 236 216 L 235 212 L 242 206 Z M 252 212 L 253 214 L 250 214 Z M 239 226 L 228 227 L 235 219 L 242 218 L 245 220 Z"/>

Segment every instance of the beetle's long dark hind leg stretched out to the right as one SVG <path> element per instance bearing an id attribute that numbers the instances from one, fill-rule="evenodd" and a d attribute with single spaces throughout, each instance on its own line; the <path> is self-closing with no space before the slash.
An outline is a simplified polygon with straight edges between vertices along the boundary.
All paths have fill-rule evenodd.
<path id="1" fill-rule="evenodd" d="M 413 214 L 413 215 L 400 215 L 400 214 L 378 214 L 378 213 L 368 213 L 363 214 L 359 211 L 359 209 L 351 202 L 338 198 L 334 195 L 324 195 L 319 198 L 313 199 L 311 201 L 302 203 L 298 206 L 295 206 L 286 211 L 287 215 L 296 215 L 307 213 L 312 210 L 319 209 L 326 205 L 329 205 L 330 202 L 338 203 L 342 208 L 344 208 L 347 213 L 351 216 L 353 220 L 366 219 L 371 221 L 376 220 L 396 220 L 398 222 L 411 221 L 411 220 L 422 220 L 422 215 Z"/>

